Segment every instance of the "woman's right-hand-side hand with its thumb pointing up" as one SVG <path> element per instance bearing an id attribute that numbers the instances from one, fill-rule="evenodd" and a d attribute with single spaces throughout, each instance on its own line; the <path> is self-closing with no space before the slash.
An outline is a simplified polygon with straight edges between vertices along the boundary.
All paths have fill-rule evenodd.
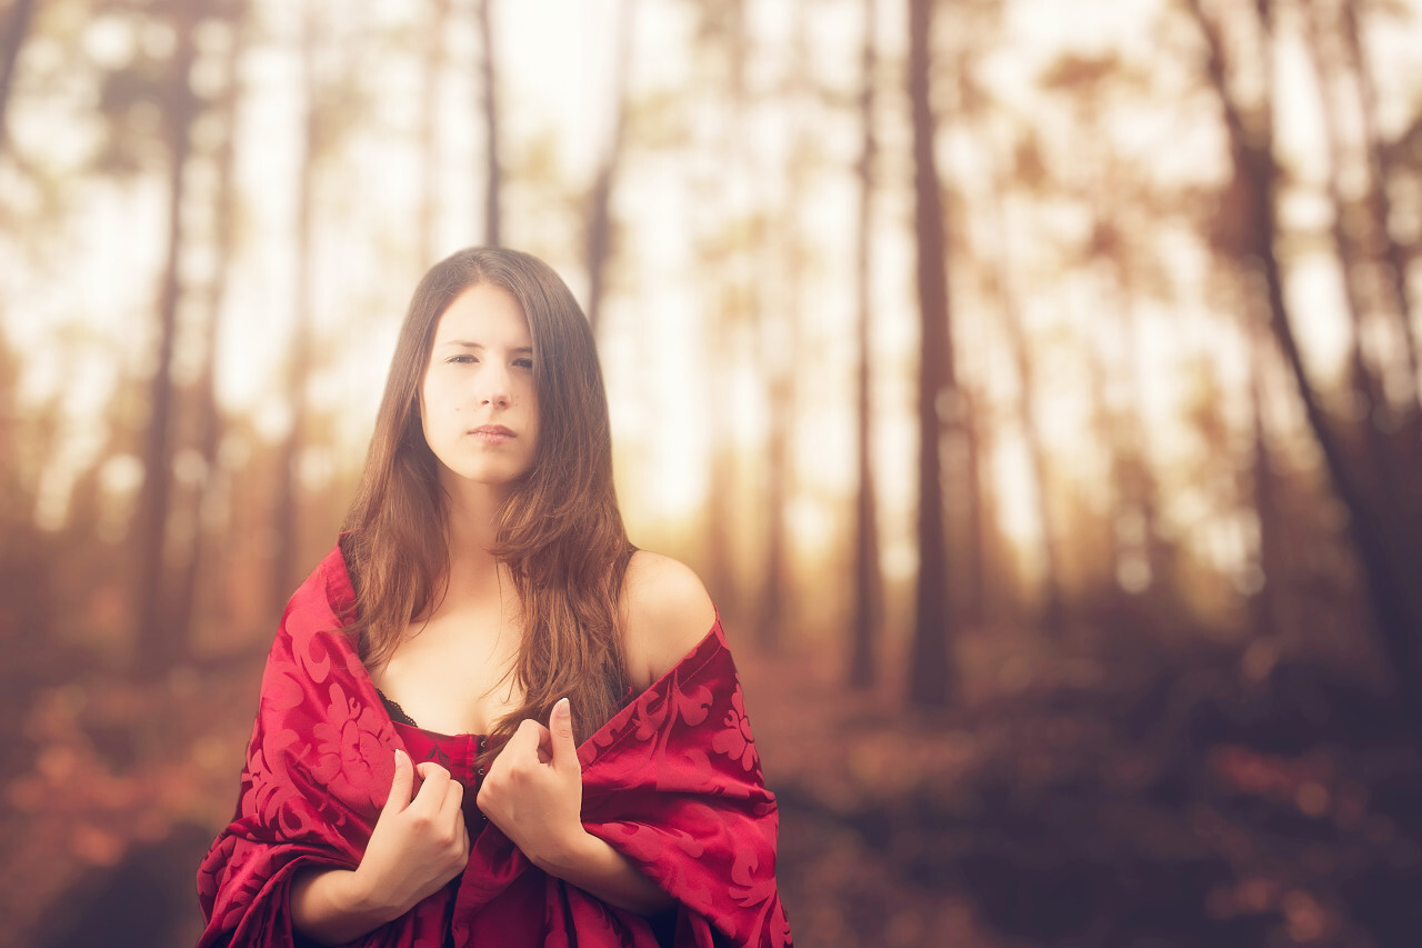
<path id="1" fill-rule="evenodd" d="M 586 841 L 583 766 L 566 697 L 553 705 L 547 727 L 532 719 L 519 725 L 489 767 L 478 803 L 540 868 L 563 863 Z"/>

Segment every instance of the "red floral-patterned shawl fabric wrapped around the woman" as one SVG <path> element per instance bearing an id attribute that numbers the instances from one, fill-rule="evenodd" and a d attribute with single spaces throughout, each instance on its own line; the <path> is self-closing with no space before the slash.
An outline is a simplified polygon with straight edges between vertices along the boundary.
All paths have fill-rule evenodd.
<path id="1" fill-rule="evenodd" d="M 337 616 L 354 601 L 334 549 L 287 605 L 232 823 L 198 870 L 199 948 L 300 944 L 287 895 L 300 865 L 354 868 L 411 729 L 391 723 Z M 411 739 L 411 743 L 414 740 Z M 673 944 L 791 945 L 765 789 L 720 619 L 681 662 L 577 749 L 583 824 L 677 901 Z M 469 773 L 455 774 L 468 779 Z M 472 794 L 469 794 L 472 797 Z M 354 942 L 651 948 L 647 920 L 546 875 L 478 810 L 464 875 Z"/>

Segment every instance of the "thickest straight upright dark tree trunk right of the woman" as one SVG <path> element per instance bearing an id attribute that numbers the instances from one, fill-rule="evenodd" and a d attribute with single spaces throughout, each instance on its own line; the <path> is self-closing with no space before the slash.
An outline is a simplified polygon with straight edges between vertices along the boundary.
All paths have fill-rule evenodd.
<path id="1" fill-rule="evenodd" d="M 948 700 L 948 641 L 956 618 L 948 599 L 948 547 L 943 528 L 940 448 L 946 411 L 956 393 L 948 327 L 948 242 L 933 115 L 933 0 L 909 0 L 909 107 L 913 121 L 914 233 L 921 354 L 919 369 L 919 578 L 910 646 L 909 699 L 916 705 Z"/>

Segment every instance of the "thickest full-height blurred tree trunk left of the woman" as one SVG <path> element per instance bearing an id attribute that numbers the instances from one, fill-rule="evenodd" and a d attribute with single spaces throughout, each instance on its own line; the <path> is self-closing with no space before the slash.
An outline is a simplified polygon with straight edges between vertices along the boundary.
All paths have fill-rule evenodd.
<path id="1" fill-rule="evenodd" d="M 168 507 L 172 493 L 172 360 L 182 296 L 183 199 L 186 198 L 191 130 L 196 118 L 192 73 L 196 47 L 191 6 L 173 7 L 175 47 L 168 63 L 165 105 L 168 132 L 168 249 L 158 292 L 158 359 L 149 381 L 148 428 L 144 438 L 144 484 L 132 534 L 137 539 L 138 582 L 134 615 L 138 621 L 135 666 L 145 678 L 158 678 L 181 658 L 182 629 L 168 613 L 166 588 Z"/>

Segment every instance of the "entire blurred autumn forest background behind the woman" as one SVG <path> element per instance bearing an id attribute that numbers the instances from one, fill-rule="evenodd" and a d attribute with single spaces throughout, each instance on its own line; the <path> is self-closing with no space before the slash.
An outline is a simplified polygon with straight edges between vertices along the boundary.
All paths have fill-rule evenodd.
<path id="1" fill-rule="evenodd" d="M 404 306 L 583 303 L 802 945 L 1416 944 L 1418 0 L 6 0 L 0 944 L 186 945 Z"/>

